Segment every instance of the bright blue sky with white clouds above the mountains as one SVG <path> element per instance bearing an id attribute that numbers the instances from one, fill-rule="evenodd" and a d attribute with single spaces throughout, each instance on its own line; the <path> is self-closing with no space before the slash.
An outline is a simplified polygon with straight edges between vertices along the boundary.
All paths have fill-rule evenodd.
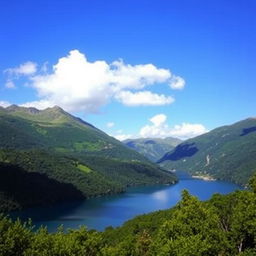
<path id="1" fill-rule="evenodd" d="M 0 3 L 0 106 L 59 105 L 117 139 L 256 116 L 255 0 Z"/>

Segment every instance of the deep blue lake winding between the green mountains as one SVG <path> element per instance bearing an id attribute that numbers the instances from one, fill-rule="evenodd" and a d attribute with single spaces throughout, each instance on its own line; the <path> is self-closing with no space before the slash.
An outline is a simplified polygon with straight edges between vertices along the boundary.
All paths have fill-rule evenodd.
<path id="1" fill-rule="evenodd" d="M 50 232 L 56 231 L 59 225 L 64 228 L 86 225 L 90 229 L 104 230 L 108 226 L 120 226 L 137 215 L 174 206 L 181 199 L 184 189 L 201 200 L 209 199 L 214 193 L 227 194 L 242 189 L 232 183 L 193 179 L 183 174 L 179 174 L 179 178 L 179 183 L 175 185 L 133 187 L 118 195 L 32 208 L 13 213 L 12 217 L 19 216 L 22 220 L 31 218 L 36 227 L 45 225 Z"/>

